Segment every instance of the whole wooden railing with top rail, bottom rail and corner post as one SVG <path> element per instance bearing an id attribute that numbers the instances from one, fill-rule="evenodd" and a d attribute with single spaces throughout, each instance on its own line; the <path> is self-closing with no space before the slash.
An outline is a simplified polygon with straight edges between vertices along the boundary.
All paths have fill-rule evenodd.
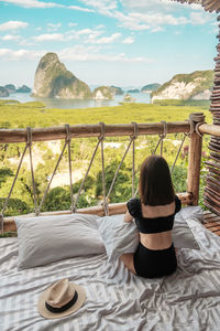
<path id="1" fill-rule="evenodd" d="M 187 121 L 180 122 L 154 122 L 154 124 L 128 124 L 128 125 L 77 125 L 68 127 L 68 139 L 74 138 L 88 138 L 98 137 L 101 141 L 105 137 L 122 137 L 130 136 L 131 139 L 135 139 L 138 136 L 158 135 L 162 139 L 166 127 L 166 134 L 183 132 L 189 136 L 189 159 L 188 159 L 188 171 L 187 171 L 187 192 L 178 193 L 177 195 L 185 205 L 197 205 L 199 196 L 199 180 L 200 180 L 200 161 L 201 161 L 201 149 L 202 149 L 202 135 L 215 135 L 220 137 L 220 126 L 205 124 L 205 116 L 202 113 L 191 114 Z M 105 132 L 103 132 L 105 128 Z M 29 129 L 0 129 L 0 143 L 16 143 L 16 142 L 29 142 L 30 139 Z M 103 137 L 105 135 L 105 137 Z M 28 138 L 29 137 L 29 138 Z M 48 141 L 57 139 L 66 139 L 67 131 L 65 127 L 52 127 L 52 128 L 33 128 L 32 129 L 32 141 Z M 133 141 L 132 140 L 132 141 Z M 134 145 L 133 145 L 134 146 Z M 108 201 L 107 201 L 108 203 Z M 59 215 L 69 214 L 73 212 L 88 213 L 105 215 L 105 205 L 92 206 L 79 210 L 57 211 L 57 212 L 45 212 L 38 213 L 38 215 Z M 108 215 L 122 214 L 125 212 L 124 203 L 108 204 Z M 22 215 L 34 216 L 36 213 Z M 9 216 L 3 220 L 3 229 L 15 231 L 14 217 Z"/>

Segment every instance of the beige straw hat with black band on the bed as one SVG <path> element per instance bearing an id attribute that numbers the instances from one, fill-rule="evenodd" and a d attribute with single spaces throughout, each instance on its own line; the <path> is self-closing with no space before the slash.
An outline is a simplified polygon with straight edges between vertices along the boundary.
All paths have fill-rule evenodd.
<path id="1" fill-rule="evenodd" d="M 65 278 L 50 286 L 40 296 L 37 309 L 44 318 L 57 319 L 77 311 L 85 300 L 85 289 Z"/>

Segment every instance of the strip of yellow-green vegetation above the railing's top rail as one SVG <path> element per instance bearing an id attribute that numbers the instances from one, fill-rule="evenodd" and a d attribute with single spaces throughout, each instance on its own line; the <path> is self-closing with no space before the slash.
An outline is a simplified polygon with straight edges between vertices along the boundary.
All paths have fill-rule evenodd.
<path id="1" fill-rule="evenodd" d="M 184 121 L 191 113 L 202 111 L 207 122 L 211 122 L 211 114 L 208 107 L 187 106 L 187 102 L 172 100 L 174 106 L 165 104 L 124 104 L 123 106 L 99 107 L 85 109 L 47 109 L 42 103 L 4 104 L 0 107 L 0 127 L 8 122 L 10 128 L 50 127 L 78 124 L 128 124 Z M 175 104 L 176 103 L 176 104 Z M 178 104 L 179 103 L 179 104 Z M 177 105 L 178 104 L 178 105 Z M 200 104 L 199 104 L 200 105 Z M 183 108 L 179 108 L 182 106 Z"/>

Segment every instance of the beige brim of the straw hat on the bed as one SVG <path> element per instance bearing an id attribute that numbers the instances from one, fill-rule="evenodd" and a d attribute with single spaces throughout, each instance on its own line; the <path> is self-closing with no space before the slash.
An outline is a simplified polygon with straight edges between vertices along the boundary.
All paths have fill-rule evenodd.
<path id="1" fill-rule="evenodd" d="M 65 316 L 76 312 L 84 305 L 84 302 L 86 301 L 85 289 L 81 286 L 73 284 L 73 282 L 70 282 L 69 285 L 73 286 L 73 288 L 78 293 L 78 299 L 77 299 L 76 303 L 74 303 L 69 309 L 67 309 L 64 312 L 51 312 L 45 306 L 45 298 L 46 298 L 47 292 L 50 291 L 50 288 L 51 288 L 51 286 L 50 286 L 38 298 L 37 310 L 42 317 L 44 317 L 45 319 L 63 318 Z"/>

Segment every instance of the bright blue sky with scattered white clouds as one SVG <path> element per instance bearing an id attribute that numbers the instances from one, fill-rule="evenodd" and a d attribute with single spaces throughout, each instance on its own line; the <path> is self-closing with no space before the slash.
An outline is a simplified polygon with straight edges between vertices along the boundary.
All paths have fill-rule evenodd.
<path id="1" fill-rule="evenodd" d="M 47 52 L 88 85 L 212 70 L 217 14 L 169 0 L 0 0 L 0 85 L 33 88 Z"/>

